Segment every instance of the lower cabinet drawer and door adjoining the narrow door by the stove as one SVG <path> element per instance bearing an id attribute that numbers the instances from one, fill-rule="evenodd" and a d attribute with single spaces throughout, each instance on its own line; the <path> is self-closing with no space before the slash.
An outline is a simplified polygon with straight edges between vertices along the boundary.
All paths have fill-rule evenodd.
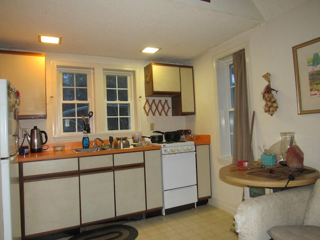
<path id="1" fill-rule="evenodd" d="M 145 211 L 143 151 L 114 154 L 113 160 L 116 216 Z"/>

